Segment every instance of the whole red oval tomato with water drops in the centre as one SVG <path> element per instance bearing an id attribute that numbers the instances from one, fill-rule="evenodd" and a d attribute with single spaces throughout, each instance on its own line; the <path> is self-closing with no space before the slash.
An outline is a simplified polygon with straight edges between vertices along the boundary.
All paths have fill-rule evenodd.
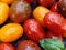
<path id="1" fill-rule="evenodd" d="M 45 37 L 44 30 L 35 19 L 26 20 L 23 28 L 26 37 L 32 41 L 38 43 Z"/>

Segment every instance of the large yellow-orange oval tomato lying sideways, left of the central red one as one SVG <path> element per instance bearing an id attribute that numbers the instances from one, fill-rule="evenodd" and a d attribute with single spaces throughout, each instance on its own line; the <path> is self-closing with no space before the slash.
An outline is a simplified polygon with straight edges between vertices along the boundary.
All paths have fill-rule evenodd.
<path id="1" fill-rule="evenodd" d="M 13 42 L 23 34 L 23 28 L 19 23 L 8 23 L 0 29 L 2 42 Z"/>

